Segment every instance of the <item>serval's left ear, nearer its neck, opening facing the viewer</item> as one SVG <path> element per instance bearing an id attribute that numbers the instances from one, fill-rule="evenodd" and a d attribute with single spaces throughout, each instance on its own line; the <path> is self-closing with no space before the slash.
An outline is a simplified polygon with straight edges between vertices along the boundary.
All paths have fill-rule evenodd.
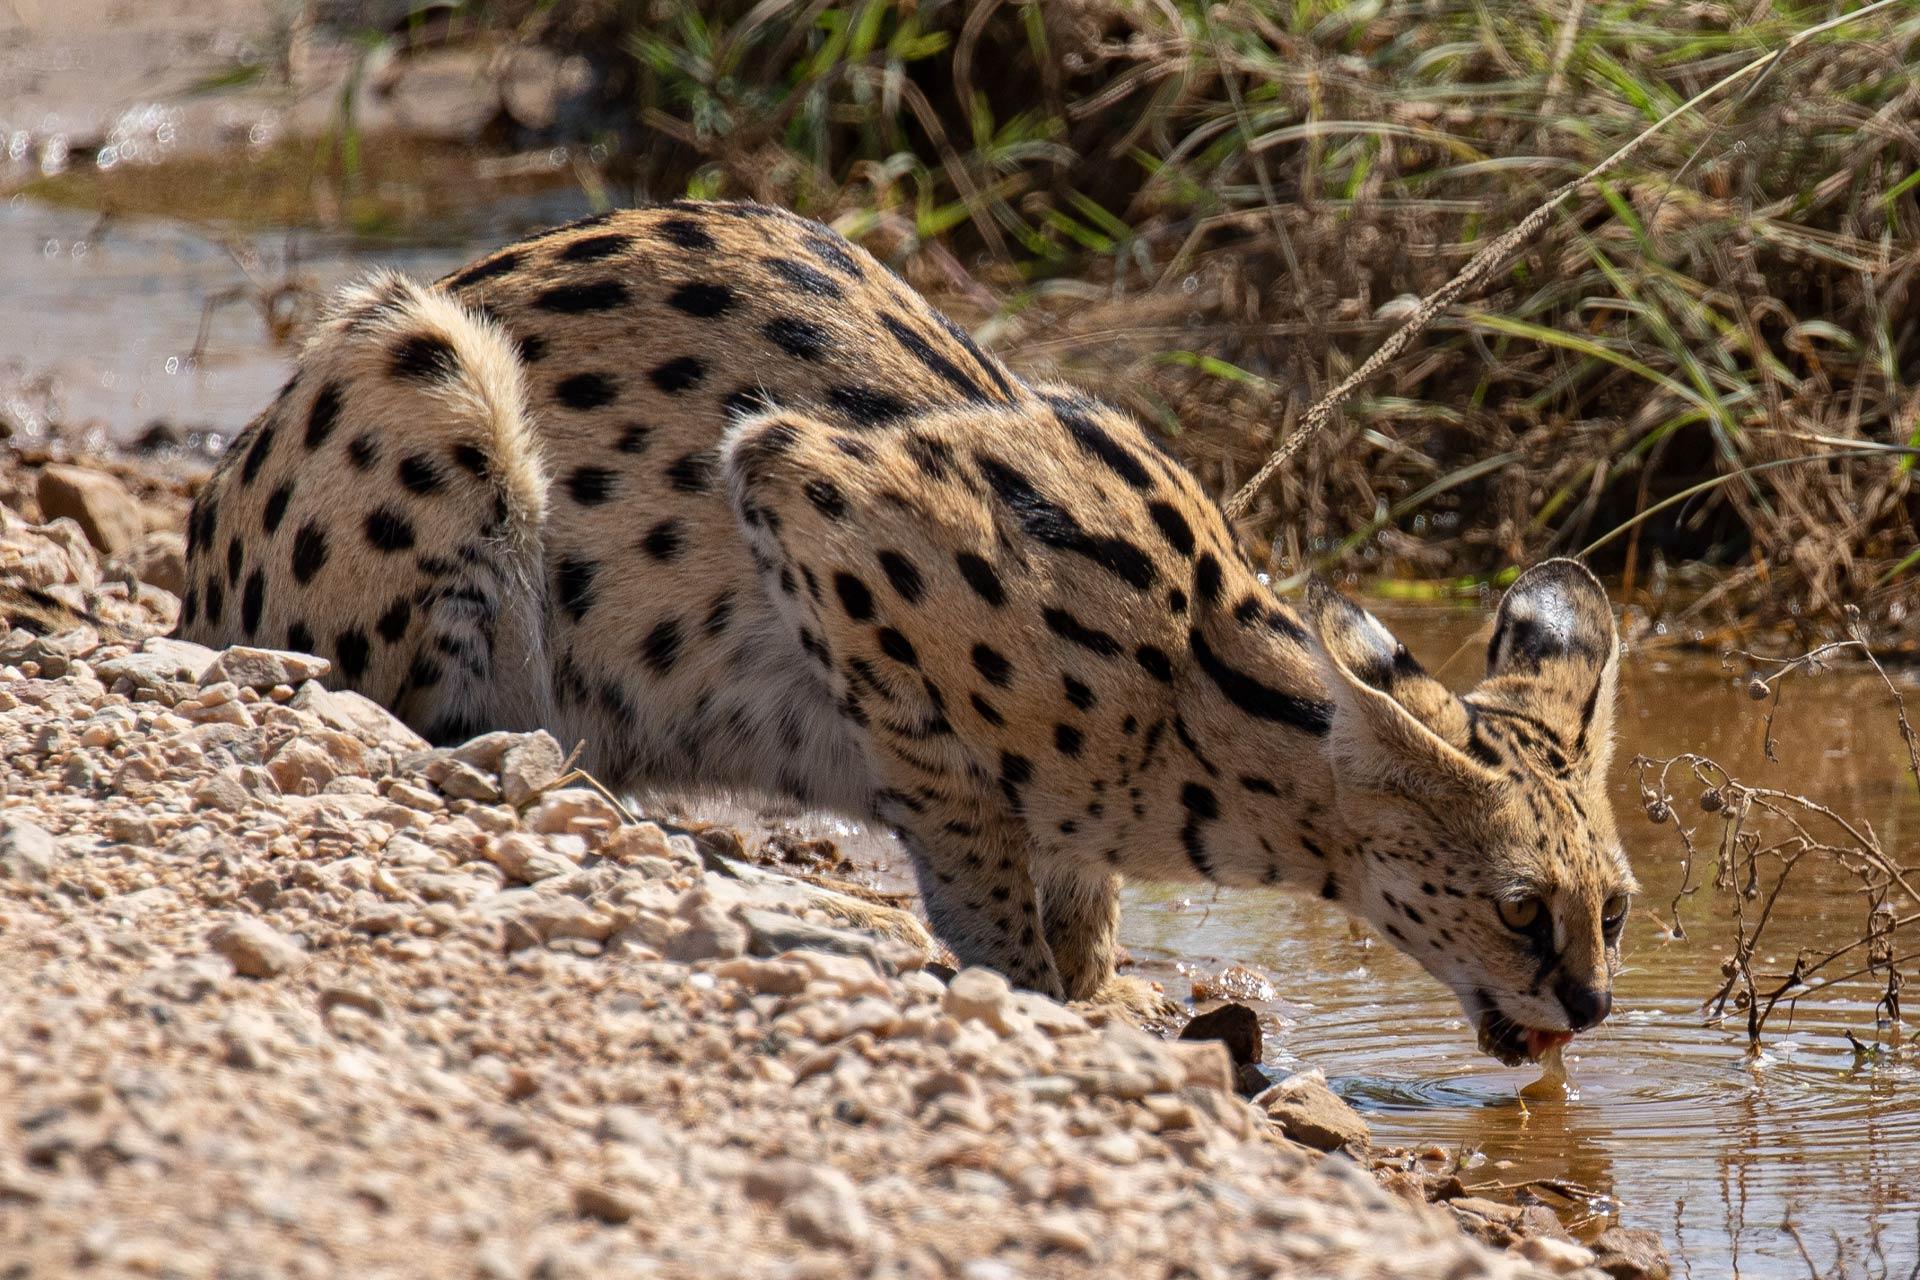
<path id="1" fill-rule="evenodd" d="M 1469 754 L 1467 708 L 1379 618 L 1315 578 L 1308 620 L 1334 700 L 1331 747 L 1342 768 L 1375 787 L 1423 796 L 1498 783 Z"/>

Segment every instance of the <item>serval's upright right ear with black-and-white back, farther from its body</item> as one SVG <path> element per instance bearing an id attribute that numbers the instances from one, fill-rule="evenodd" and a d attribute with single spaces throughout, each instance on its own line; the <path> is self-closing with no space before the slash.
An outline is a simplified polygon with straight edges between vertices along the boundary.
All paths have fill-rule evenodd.
<path id="1" fill-rule="evenodd" d="M 1513 580 L 1475 702 L 1546 725 L 1555 748 L 1592 773 L 1613 756 L 1620 637 L 1605 587 L 1576 560 L 1542 560 Z"/>

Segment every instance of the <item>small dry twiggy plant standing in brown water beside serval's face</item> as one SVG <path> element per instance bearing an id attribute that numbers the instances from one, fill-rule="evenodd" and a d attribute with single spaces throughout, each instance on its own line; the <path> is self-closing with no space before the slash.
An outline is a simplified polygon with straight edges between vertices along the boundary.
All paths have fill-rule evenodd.
<path id="1" fill-rule="evenodd" d="M 1845 641 L 1820 645 L 1793 658 L 1736 649 L 1724 654 L 1722 664 L 1730 670 L 1736 662 L 1749 664 L 1747 695 L 1755 702 L 1766 702 L 1766 758 L 1778 760 L 1774 714 L 1788 681 L 1816 676 L 1837 652 L 1862 656 L 1887 691 L 1887 710 L 1907 750 L 1907 771 L 1920 789 L 1920 735 L 1908 722 L 1907 700 L 1862 639 L 1859 616 L 1849 622 L 1851 637 Z M 1757 1050 L 1761 1032 L 1778 1009 L 1786 1007 L 1791 1019 L 1799 1000 L 1853 984 L 1878 992 L 1874 1040 L 1845 1032 L 1855 1054 L 1864 1057 L 1895 1052 L 1901 1046 L 1901 992 L 1920 973 L 1920 948 L 1912 946 L 1914 925 L 1920 923 L 1920 867 L 1901 865 L 1901 858 L 1882 846 L 1864 818 L 1847 818 L 1812 796 L 1743 783 L 1711 756 L 1636 756 L 1634 768 L 1640 770 L 1640 800 L 1647 819 L 1672 823 L 1680 841 L 1680 889 L 1667 908 L 1668 919 L 1661 921 L 1668 936 L 1686 936 L 1680 908 L 1701 889 L 1711 887 L 1728 904 L 1734 948 L 1720 965 L 1720 988 L 1703 1006 L 1709 1023 L 1743 1017 L 1747 1044 Z M 1699 793 L 1692 804 L 1705 818 L 1690 827 L 1678 821 L 1674 793 L 1693 787 Z M 1768 936 L 1774 908 L 1789 892 L 1814 892 L 1814 875 L 1834 867 L 1857 883 L 1857 936 L 1824 952 L 1816 946 L 1795 948 L 1786 973 L 1763 973 L 1763 954 L 1782 950 L 1778 938 Z"/>

